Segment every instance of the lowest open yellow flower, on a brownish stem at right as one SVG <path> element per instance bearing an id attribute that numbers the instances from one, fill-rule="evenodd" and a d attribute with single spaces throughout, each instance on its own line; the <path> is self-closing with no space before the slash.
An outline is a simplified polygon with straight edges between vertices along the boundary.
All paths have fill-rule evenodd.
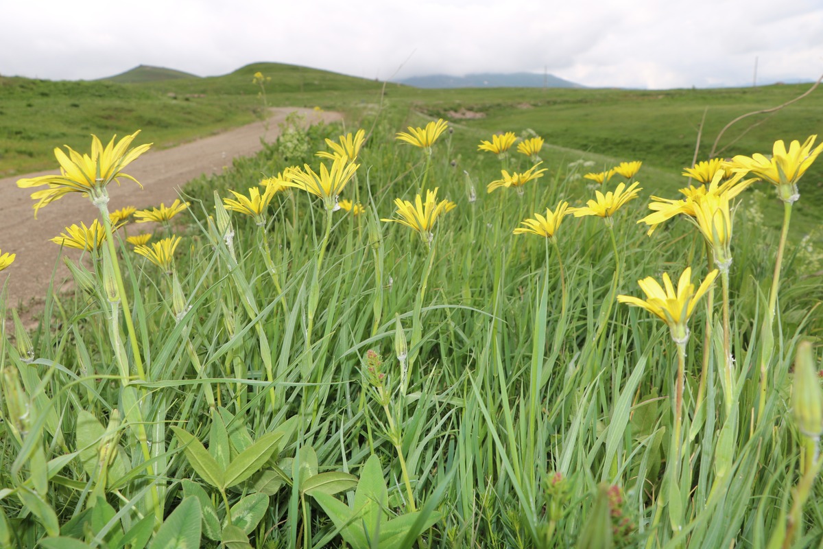
<path id="1" fill-rule="evenodd" d="M 637 281 L 640 289 L 646 295 L 645 300 L 641 300 L 631 295 L 618 295 L 617 300 L 628 305 L 642 307 L 649 313 L 656 315 L 663 322 L 667 323 L 672 339 L 678 345 L 685 345 L 689 339 L 689 328 L 686 326 L 691 314 L 695 311 L 695 305 L 701 297 L 709 291 L 709 287 L 718 276 L 718 270 L 709 272 L 700 287 L 695 291 L 695 285 L 691 283 L 691 268 L 687 267 L 680 280 L 677 281 L 677 291 L 672 286 L 672 279 L 668 273 L 663 273 L 663 286 L 652 277 L 646 277 Z"/>

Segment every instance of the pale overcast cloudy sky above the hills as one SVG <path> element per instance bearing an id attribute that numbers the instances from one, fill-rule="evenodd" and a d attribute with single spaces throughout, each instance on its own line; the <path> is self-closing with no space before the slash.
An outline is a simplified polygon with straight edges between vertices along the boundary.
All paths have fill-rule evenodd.
<path id="1" fill-rule="evenodd" d="M 823 74 L 821 0 L 0 0 L 0 74 L 199 76 L 258 61 L 366 78 L 540 72 L 584 86 Z"/>

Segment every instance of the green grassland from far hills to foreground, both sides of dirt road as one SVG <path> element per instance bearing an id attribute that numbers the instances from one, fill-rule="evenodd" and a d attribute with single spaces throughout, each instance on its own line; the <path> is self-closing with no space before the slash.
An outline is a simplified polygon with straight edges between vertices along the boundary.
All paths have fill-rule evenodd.
<path id="1" fill-rule="evenodd" d="M 705 219 L 638 223 L 680 198 L 701 120 L 698 160 L 807 86 L 421 91 L 271 63 L 4 77 L 0 171 L 55 168 L 89 133 L 163 147 L 247 123 L 255 72 L 268 105 L 345 123 L 295 123 L 193 180 L 141 253 L 141 226 L 106 215 L 130 205 L 92 189 L 105 238 L 63 251 L 77 291 L 45 295 L 34 330 L 0 300 L 0 547 L 821 546 L 821 161 L 791 207 L 756 182 Z M 802 142 L 820 107 L 744 121 L 722 154 Z M 396 138 L 438 118 L 428 150 Z M 360 128 L 337 166 L 353 174 L 329 177 L 361 210 L 284 171 L 322 174 L 315 151 Z M 544 137 L 542 164 L 477 150 L 507 131 Z M 643 165 L 584 178 L 621 161 Z M 278 174 L 291 186 L 261 183 Z M 622 199 L 560 215 L 596 189 Z M 560 216 L 551 238 L 514 234 L 535 212 Z M 654 300 L 638 281 L 663 273 Z"/>

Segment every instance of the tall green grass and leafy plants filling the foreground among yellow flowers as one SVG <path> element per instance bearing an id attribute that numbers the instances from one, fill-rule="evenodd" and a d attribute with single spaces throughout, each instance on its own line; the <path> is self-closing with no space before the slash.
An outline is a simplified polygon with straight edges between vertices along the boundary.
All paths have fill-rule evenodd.
<path id="1" fill-rule="evenodd" d="M 797 344 L 819 338 L 823 326 L 813 258 L 789 244 L 761 405 L 759 326 L 779 235 L 761 228 L 756 202 L 744 195 L 729 280 L 733 406 L 726 411 L 718 375 L 719 309 L 704 350 L 699 307 L 676 444 L 677 350 L 663 324 L 615 296 L 637 295 L 638 279 L 689 265 L 702 279 L 704 243 L 694 228 L 677 220 L 645 235 L 636 221 L 654 182 L 641 170 L 641 199 L 615 216 L 619 257 L 597 218 L 564 221 L 557 249 L 512 235 L 561 198 L 590 198 L 580 178 L 586 166 L 570 157 L 523 196 L 489 194 L 499 169 L 485 160 L 452 165 L 481 154 L 453 136 L 444 134 L 430 158 L 399 145 L 394 133 L 421 122 L 404 115 L 360 121 L 373 130 L 344 195 L 359 196 L 365 213 L 334 212 L 328 242 L 319 201 L 296 189 L 267 212 L 267 249 L 253 220 L 222 209 L 230 188 L 244 192 L 287 165 L 316 165 L 283 158 L 279 146 L 187 186 L 192 207 L 174 231 L 184 236 L 176 292 L 174 278 L 118 238 L 145 378 L 119 367 L 136 357 L 102 283 L 70 297 L 49 293 L 31 334 L 32 361 L 23 333 L 2 334 L 0 545 L 788 540 L 793 486 L 817 463 L 789 404 Z M 305 138 L 316 150 L 339 131 L 315 127 Z M 461 139 L 488 138 L 469 135 Z M 525 157 L 511 161 L 513 170 L 530 167 Z M 406 227 L 379 221 L 424 178 L 457 204 L 435 226 L 432 254 Z M 93 258 L 72 262 L 91 281 L 105 279 Z M 667 477 L 672 470 L 677 476 Z M 820 492 L 811 490 L 791 534 L 796 547 L 823 540 Z"/>

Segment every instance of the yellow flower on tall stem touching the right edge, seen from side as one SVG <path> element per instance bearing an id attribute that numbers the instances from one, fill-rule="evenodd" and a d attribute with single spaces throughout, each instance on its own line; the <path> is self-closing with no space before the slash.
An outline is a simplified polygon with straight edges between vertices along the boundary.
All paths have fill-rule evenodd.
<path id="1" fill-rule="evenodd" d="M 795 202 L 800 198 L 797 180 L 823 151 L 823 143 L 811 148 L 816 138 L 816 135 L 809 136 L 802 145 L 799 141 L 793 141 L 788 146 L 788 151 L 783 140 L 779 139 L 774 142 L 771 158 L 756 153 L 751 157 L 735 156 L 732 163 L 737 166 L 737 170 L 751 173 L 776 185 L 778 196 L 783 202 Z"/>

